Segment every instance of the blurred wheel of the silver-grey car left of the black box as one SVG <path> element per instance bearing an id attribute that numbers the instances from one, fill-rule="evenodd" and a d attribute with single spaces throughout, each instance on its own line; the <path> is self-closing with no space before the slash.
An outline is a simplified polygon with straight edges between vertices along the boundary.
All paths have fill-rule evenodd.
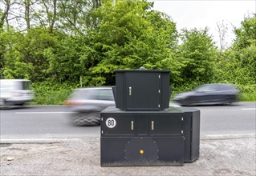
<path id="1" fill-rule="evenodd" d="M 77 113 L 72 116 L 75 126 L 98 126 L 100 125 L 100 114 L 97 113 Z"/>

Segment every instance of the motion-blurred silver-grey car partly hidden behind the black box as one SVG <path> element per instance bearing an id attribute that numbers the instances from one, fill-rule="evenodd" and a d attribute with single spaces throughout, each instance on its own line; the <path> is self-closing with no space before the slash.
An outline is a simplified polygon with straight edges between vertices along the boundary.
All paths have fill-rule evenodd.
<path id="1" fill-rule="evenodd" d="M 75 89 L 65 104 L 71 110 L 71 121 L 77 126 L 100 125 L 100 111 L 114 106 L 112 87 Z"/>

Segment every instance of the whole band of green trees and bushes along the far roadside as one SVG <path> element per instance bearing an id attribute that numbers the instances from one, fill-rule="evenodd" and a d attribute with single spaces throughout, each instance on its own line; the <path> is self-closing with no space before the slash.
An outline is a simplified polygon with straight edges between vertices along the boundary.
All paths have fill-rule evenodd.
<path id="1" fill-rule="evenodd" d="M 255 14 L 234 29 L 232 46 L 218 50 L 207 28 L 178 32 L 145 0 L 1 3 L 0 77 L 28 78 L 43 96 L 59 90 L 65 97 L 81 82 L 114 85 L 114 70 L 140 66 L 171 70 L 175 92 L 230 82 L 256 94 Z"/>

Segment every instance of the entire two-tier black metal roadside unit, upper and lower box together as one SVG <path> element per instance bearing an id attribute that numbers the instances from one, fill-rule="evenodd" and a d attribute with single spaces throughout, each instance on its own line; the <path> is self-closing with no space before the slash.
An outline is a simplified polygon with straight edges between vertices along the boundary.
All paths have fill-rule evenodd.
<path id="1" fill-rule="evenodd" d="M 199 158 L 200 110 L 169 107 L 169 70 L 116 70 L 100 113 L 101 166 L 181 166 Z"/>

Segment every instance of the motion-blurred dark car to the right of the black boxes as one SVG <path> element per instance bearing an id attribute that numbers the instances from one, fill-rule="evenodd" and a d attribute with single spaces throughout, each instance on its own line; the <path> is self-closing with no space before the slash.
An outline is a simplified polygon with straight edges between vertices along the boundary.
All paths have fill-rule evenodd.
<path id="1" fill-rule="evenodd" d="M 230 105 L 232 102 L 238 102 L 240 90 L 233 84 L 205 84 L 197 87 L 195 90 L 177 94 L 173 100 L 182 106 L 191 105 Z"/>

